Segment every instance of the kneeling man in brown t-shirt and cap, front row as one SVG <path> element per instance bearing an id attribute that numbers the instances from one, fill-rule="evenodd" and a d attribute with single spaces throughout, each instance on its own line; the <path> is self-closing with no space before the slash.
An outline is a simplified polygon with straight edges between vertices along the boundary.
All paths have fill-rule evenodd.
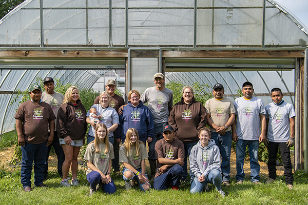
<path id="1" fill-rule="evenodd" d="M 172 189 L 178 189 L 181 184 L 184 171 L 184 144 L 174 138 L 174 129 L 166 125 L 163 128 L 163 139 L 155 144 L 157 170 L 153 188 L 157 190 L 167 189 L 169 184 Z"/>

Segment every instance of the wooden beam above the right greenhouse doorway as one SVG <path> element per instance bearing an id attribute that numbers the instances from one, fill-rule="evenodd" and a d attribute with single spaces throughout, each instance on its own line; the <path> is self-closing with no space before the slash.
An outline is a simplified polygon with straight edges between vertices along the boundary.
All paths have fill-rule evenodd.
<path id="1" fill-rule="evenodd" d="M 304 57 L 304 50 L 162 50 L 165 58 Z"/>

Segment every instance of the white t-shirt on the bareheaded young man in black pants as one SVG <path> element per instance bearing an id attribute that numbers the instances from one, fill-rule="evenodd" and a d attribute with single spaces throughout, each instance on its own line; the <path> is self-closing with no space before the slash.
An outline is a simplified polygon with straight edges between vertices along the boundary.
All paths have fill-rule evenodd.
<path id="1" fill-rule="evenodd" d="M 279 106 L 270 103 L 265 106 L 265 110 L 268 141 L 286 142 L 290 138 L 290 118 L 296 116 L 293 106 L 285 102 Z"/>

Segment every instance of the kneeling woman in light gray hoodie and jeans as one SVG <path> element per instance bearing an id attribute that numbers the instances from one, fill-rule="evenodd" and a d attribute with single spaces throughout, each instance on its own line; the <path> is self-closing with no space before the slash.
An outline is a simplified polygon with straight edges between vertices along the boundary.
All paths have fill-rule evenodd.
<path id="1" fill-rule="evenodd" d="M 199 141 L 192 147 L 189 161 L 190 171 L 195 178 L 191 183 L 190 193 L 201 193 L 207 183 L 213 183 L 219 194 L 224 197 L 221 190 L 220 152 L 215 141 L 210 139 L 210 130 L 206 127 L 199 130 Z"/>

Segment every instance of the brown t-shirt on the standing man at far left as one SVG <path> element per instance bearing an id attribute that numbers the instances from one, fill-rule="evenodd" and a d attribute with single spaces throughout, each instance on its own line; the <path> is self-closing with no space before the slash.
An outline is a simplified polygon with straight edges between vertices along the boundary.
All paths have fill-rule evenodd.
<path id="1" fill-rule="evenodd" d="M 29 144 L 41 144 L 48 139 L 49 121 L 56 117 L 47 103 L 33 103 L 31 100 L 18 107 L 15 119 L 22 121 L 23 136 Z"/>

